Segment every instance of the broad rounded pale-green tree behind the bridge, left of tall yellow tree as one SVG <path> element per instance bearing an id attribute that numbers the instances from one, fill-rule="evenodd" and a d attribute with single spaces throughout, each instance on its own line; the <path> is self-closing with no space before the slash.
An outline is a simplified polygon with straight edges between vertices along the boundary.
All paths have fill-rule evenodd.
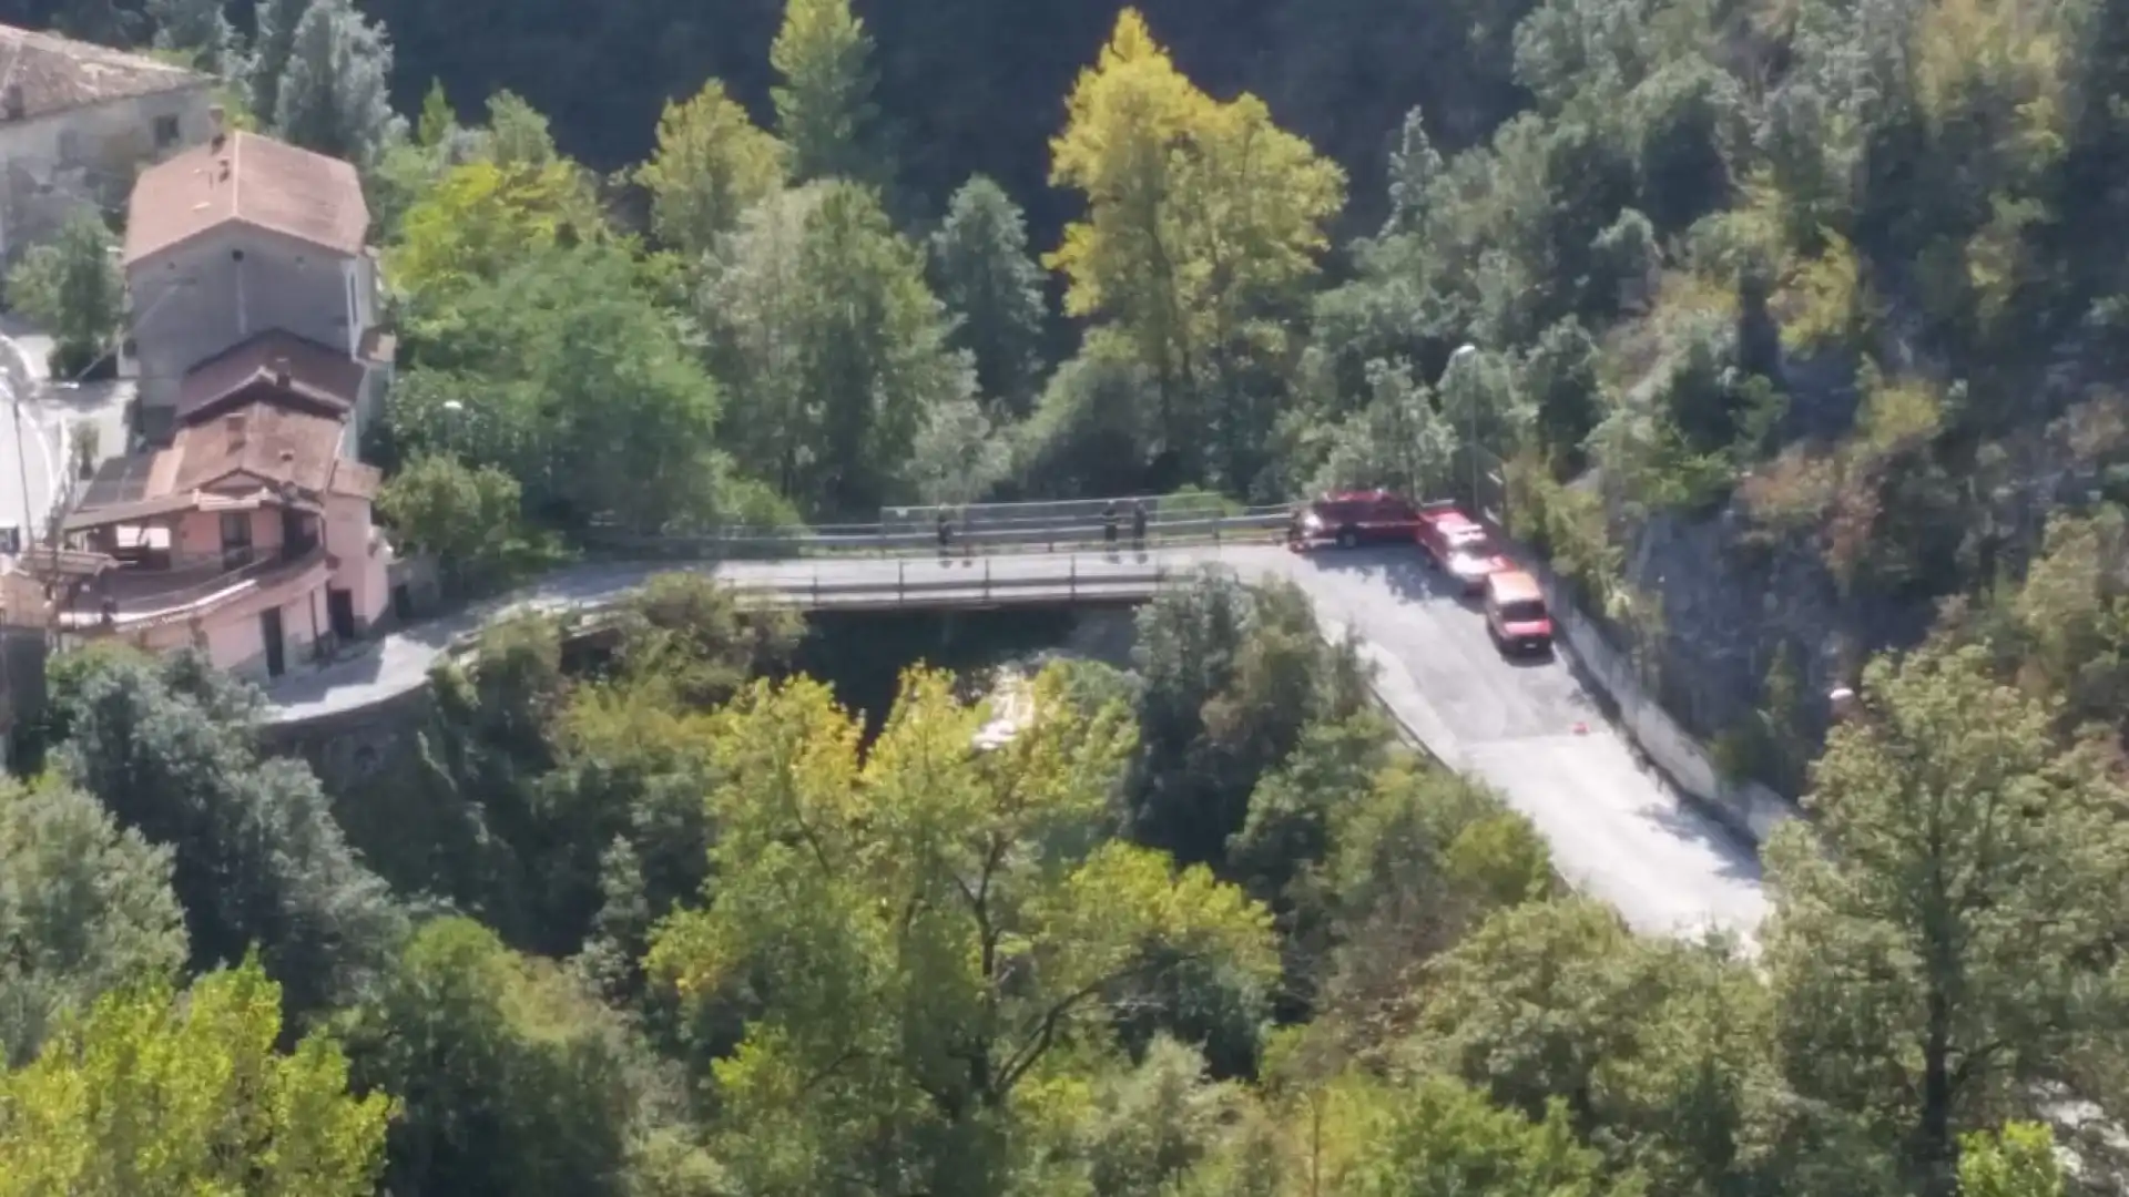
<path id="1" fill-rule="evenodd" d="M 730 396 L 726 445 L 813 515 L 905 490 L 930 413 L 973 390 L 922 249 L 856 183 L 813 183 L 752 211 L 698 317 Z"/>

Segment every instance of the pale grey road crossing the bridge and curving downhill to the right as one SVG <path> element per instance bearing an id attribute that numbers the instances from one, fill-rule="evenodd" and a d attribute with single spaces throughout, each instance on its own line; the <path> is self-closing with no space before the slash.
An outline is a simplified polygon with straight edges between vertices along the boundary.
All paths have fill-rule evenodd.
<path id="1" fill-rule="evenodd" d="M 1284 547 L 1205 545 L 1154 550 L 1143 558 L 988 558 L 992 577 L 1082 584 L 1103 573 L 1143 575 L 1150 564 L 1214 564 L 1241 577 L 1288 577 L 1314 601 L 1326 630 L 1352 630 L 1377 665 L 1384 705 L 1448 765 L 1492 784 L 1552 843 L 1561 873 L 1610 901 L 1644 933 L 1727 929 L 1746 937 L 1765 916 L 1756 854 L 1712 816 L 1646 771 L 1561 660 L 1509 662 L 1486 637 L 1475 609 L 1446 592 L 1409 550 L 1367 550 L 1299 558 Z M 364 656 L 292 675 L 268 696 L 275 722 L 366 707 L 424 684 L 449 641 L 511 609 L 596 605 L 681 564 L 581 567 L 502 603 L 383 637 Z M 986 562 L 924 558 L 828 558 L 818 562 L 722 562 L 696 567 L 741 586 L 805 590 L 815 579 L 894 584 L 969 577 Z"/>

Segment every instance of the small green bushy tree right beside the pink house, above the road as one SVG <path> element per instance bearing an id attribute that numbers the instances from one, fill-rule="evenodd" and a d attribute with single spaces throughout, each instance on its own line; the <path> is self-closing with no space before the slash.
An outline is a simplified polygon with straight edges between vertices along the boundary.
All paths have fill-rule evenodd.
<path id="1" fill-rule="evenodd" d="M 407 547 L 434 556 L 456 592 L 505 581 L 524 547 L 517 479 L 496 466 L 419 456 L 377 492 L 377 513 Z"/>

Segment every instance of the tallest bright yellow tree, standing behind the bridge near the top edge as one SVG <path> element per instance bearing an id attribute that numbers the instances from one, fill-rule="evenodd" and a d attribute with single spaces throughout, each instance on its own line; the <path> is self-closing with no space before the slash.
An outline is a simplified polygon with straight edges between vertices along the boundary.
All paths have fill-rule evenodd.
<path id="1" fill-rule="evenodd" d="M 1256 96 L 1201 92 L 1137 9 L 1079 72 L 1050 153 L 1050 181 L 1086 196 L 1045 258 L 1071 283 L 1064 309 L 1101 319 L 1154 375 L 1167 447 L 1239 475 L 1269 432 L 1277 388 L 1265 375 L 1284 366 L 1286 317 L 1346 175 Z"/>

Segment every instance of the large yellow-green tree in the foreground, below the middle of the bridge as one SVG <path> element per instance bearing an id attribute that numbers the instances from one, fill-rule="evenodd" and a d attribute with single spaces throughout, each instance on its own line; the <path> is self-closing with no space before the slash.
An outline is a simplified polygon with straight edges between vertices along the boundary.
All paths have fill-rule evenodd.
<path id="1" fill-rule="evenodd" d="M 673 916 L 649 963 L 747 1014 L 715 1065 L 737 1191 L 1001 1193 L 1084 1114 L 1079 1065 L 1113 1046 L 1126 982 L 1275 975 L 1260 905 L 1109 835 L 1124 707 L 1088 709 L 1062 671 L 1028 699 L 988 750 L 941 673 L 905 679 L 864 752 L 815 682 L 720 714 L 715 901 Z"/>

